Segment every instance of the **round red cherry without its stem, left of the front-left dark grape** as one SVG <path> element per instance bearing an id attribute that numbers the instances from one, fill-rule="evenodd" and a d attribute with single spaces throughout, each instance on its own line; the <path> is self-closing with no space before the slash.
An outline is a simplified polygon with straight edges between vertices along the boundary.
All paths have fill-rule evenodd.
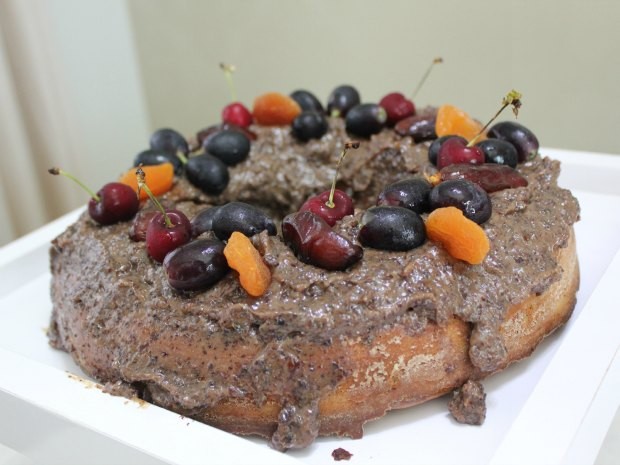
<path id="1" fill-rule="evenodd" d="M 183 212 L 170 209 L 166 210 L 166 216 L 170 224 L 166 224 L 166 217 L 158 212 L 146 228 L 146 251 L 158 262 L 192 237 L 192 226 Z"/>

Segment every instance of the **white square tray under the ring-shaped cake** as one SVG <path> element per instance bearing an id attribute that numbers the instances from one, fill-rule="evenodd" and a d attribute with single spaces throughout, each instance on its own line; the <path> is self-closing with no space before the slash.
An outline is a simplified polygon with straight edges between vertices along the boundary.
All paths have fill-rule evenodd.
<path id="1" fill-rule="evenodd" d="M 454 422 L 446 399 L 391 412 L 364 438 L 320 438 L 282 454 L 177 414 L 104 394 L 47 344 L 48 244 L 73 212 L 0 249 L 0 443 L 41 463 L 333 462 L 503 464 L 592 462 L 620 394 L 620 157 L 546 149 L 582 208 L 581 287 L 573 318 L 526 361 L 484 382 L 483 426 Z M 614 362 L 614 357 L 616 361 Z"/>

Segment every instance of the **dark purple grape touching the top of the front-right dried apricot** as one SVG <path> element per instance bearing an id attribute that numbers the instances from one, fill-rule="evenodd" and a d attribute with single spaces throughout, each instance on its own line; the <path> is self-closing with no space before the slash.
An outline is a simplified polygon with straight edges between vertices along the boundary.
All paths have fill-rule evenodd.
<path id="1" fill-rule="evenodd" d="M 477 184 L 465 179 L 443 181 L 429 195 L 431 210 L 456 207 L 470 220 L 482 224 L 491 217 L 491 200 Z"/>

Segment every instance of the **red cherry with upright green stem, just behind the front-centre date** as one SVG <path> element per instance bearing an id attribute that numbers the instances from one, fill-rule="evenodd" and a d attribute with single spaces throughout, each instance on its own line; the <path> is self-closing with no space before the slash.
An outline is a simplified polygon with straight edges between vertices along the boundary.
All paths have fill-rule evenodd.
<path id="1" fill-rule="evenodd" d="M 310 197 L 304 202 L 299 211 L 311 211 L 323 218 L 327 224 L 333 226 L 336 221 L 341 220 L 347 215 L 353 214 L 353 200 L 345 192 L 336 189 L 336 181 L 338 180 L 338 172 L 340 165 L 350 149 L 359 148 L 360 143 L 357 141 L 347 141 L 344 144 L 338 164 L 336 165 L 336 173 L 332 181 L 332 187 L 329 191 L 320 193 L 317 196 Z"/>

